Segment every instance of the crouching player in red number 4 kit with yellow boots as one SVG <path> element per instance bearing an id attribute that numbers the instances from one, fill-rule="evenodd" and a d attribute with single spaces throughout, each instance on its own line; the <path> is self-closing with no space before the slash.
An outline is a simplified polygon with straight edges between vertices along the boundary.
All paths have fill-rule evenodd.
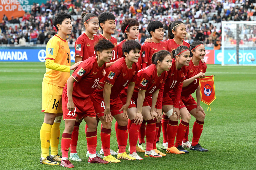
<path id="1" fill-rule="evenodd" d="M 117 163 L 119 159 L 136 160 L 136 158 L 129 156 L 125 152 L 128 139 L 128 117 L 127 108 L 130 104 L 134 85 L 139 70 L 136 63 L 139 58 L 141 45 L 135 40 L 128 40 L 123 44 L 124 56 L 116 61 L 105 74 L 100 82 L 104 82 L 104 89 L 97 90 L 92 94 L 91 100 L 94 103 L 94 108 L 99 117 L 101 128 L 101 141 L 104 152 L 104 160 Z M 122 89 L 128 86 L 127 100 L 123 105 L 119 93 Z M 111 122 L 113 117 L 118 122 L 118 129 L 116 135 L 118 138 L 118 155 L 117 159 L 110 154 L 110 133 Z"/>

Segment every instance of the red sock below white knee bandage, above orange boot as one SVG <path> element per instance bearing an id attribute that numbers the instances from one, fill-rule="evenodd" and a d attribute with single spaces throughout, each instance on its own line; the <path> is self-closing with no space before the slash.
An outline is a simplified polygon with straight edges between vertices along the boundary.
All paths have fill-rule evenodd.
<path id="1" fill-rule="evenodd" d="M 168 148 L 174 147 L 175 136 L 178 129 L 178 121 L 169 120 L 167 125 Z"/>

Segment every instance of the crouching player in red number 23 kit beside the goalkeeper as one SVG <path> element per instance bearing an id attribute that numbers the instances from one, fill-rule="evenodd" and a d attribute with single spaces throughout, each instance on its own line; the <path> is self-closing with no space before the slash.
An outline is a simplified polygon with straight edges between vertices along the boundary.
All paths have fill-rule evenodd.
<path id="1" fill-rule="evenodd" d="M 84 119 L 88 125 L 86 131 L 87 148 L 89 151 L 89 163 L 108 163 L 96 155 L 97 145 L 97 120 L 90 99 L 91 93 L 96 89 L 99 79 L 103 77 L 102 73 L 112 57 L 114 45 L 109 40 L 99 40 L 95 45 L 96 56 L 83 61 L 80 66 L 69 77 L 64 87 L 63 100 L 63 120 L 65 120 L 65 129 L 62 134 L 61 166 L 73 168 L 74 166 L 68 160 L 68 150 L 71 144 L 72 132 L 75 125 L 75 119 Z"/>

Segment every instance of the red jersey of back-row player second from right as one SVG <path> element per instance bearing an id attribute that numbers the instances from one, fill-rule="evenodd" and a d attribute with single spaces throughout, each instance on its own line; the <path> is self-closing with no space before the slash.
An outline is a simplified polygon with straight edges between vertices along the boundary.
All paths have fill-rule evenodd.
<path id="1" fill-rule="evenodd" d="M 147 66 L 152 64 L 152 55 L 160 50 L 167 50 L 165 42 L 160 43 L 145 43 L 142 46 L 142 63 L 147 63 Z"/>

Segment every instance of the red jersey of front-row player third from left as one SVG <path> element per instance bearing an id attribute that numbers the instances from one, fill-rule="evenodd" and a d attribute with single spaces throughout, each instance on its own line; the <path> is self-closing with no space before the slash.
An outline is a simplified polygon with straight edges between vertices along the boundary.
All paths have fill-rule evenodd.
<path id="1" fill-rule="evenodd" d="M 162 84 L 165 83 L 167 77 L 167 71 L 164 71 L 160 77 L 157 75 L 156 65 L 152 64 L 146 68 L 143 68 L 138 72 L 135 88 L 133 92 L 133 99 L 137 100 L 139 90 L 145 90 L 145 98 L 157 89 L 162 88 Z M 161 100 L 161 99 L 160 99 Z"/>

